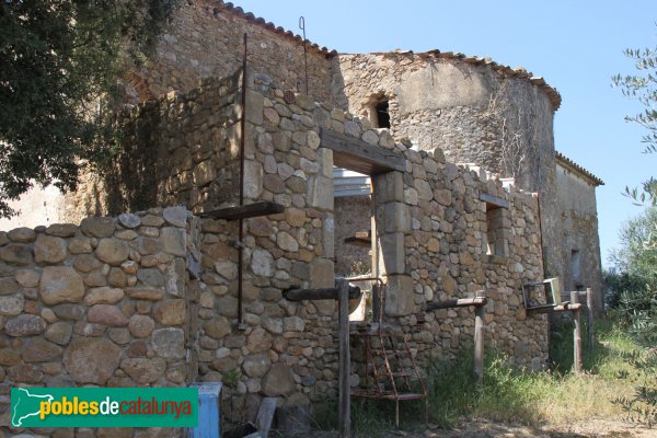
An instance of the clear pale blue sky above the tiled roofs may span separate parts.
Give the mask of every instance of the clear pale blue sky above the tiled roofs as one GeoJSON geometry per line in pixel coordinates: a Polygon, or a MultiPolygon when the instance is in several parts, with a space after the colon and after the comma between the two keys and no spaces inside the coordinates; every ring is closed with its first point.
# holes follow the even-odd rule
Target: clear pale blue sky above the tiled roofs
{"type": "Polygon", "coordinates": [[[642,153],[644,130],[624,122],[641,106],[611,88],[632,73],[623,49],[657,46],[657,1],[264,1],[237,5],[343,53],[395,48],[460,51],[522,66],[562,94],[554,119],[556,149],[601,177],[598,217],[602,264],[618,231],[639,207],[622,196],[657,175],[657,155],[642,153]]]}

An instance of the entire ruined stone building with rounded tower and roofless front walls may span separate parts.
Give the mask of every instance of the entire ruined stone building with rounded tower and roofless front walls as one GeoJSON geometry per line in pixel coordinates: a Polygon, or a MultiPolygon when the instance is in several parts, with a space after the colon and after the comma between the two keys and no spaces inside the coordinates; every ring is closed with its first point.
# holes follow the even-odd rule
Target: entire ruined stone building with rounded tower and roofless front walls
{"type": "Polygon", "coordinates": [[[385,284],[384,321],[420,364],[472,344],[470,311],[430,302],[485,290],[486,348],[534,369],[549,321],[526,311],[522,284],[560,277],[602,309],[602,182],[555,152],[554,89],[488,58],[310,43],[306,76],[303,44],[231,3],[181,8],[157,58],[127,74],[113,169],[32,195],[47,216],[0,233],[3,397],[227,374],[247,412],[264,395],[335,396],[335,302],[283,291],[333,287],[355,262],[385,284]],[[239,205],[241,175],[244,204],[283,212],[208,218],[239,205]],[[369,249],[344,243],[357,232],[369,249]]]}

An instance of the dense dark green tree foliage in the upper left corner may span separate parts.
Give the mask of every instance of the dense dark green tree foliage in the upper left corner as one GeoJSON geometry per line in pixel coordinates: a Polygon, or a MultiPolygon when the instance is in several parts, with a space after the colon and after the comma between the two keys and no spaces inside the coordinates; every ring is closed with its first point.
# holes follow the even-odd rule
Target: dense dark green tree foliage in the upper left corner
{"type": "Polygon", "coordinates": [[[177,0],[0,1],[0,216],[34,184],[73,189],[107,155],[104,105],[177,0]]]}

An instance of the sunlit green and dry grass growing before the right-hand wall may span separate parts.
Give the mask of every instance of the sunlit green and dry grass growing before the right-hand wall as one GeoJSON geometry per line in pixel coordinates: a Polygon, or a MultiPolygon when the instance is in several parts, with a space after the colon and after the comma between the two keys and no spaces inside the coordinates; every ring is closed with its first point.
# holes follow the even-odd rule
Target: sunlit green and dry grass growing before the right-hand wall
{"type": "MultiPolygon", "coordinates": [[[[580,376],[572,372],[572,328],[553,336],[553,369],[531,372],[509,367],[504,357],[487,359],[484,385],[475,390],[472,359],[435,364],[427,370],[429,423],[450,428],[463,419],[485,418],[530,426],[558,425],[589,418],[623,418],[627,414],[614,400],[631,399],[635,388],[654,379],[649,370],[637,369],[629,359],[642,349],[612,323],[596,323],[596,345],[585,345],[580,376]]],[[[654,369],[653,369],[654,371],[654,369]]],[[[401,403],[401,428],[424,427],[424,406],[401,403]]],[[[316,416],[316,427],[337,424],[335,406],[316,416]]],[[[356,436],[374,437],[394,429],[394,403],[353,400],[353,429],[356,436]]]]}

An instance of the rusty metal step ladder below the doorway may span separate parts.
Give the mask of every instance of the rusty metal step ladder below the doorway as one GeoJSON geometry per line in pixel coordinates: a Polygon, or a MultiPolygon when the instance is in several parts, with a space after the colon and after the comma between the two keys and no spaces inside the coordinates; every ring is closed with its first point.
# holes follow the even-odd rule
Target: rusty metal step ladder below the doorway
{"type": "Polygon", "coordinates": [[[384,328],[353,332],[354,345],[362,344],[365,379],[351,389],[351,396],[390,400],[395,403],[395,426],[400,426],[400,402],[424,400],[425,423],[428,419],[428,396],[424,379],[411,354],[406,337],[384,328]]]}

